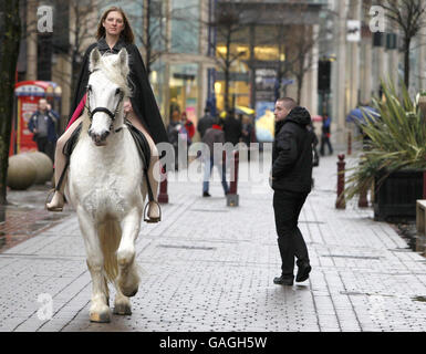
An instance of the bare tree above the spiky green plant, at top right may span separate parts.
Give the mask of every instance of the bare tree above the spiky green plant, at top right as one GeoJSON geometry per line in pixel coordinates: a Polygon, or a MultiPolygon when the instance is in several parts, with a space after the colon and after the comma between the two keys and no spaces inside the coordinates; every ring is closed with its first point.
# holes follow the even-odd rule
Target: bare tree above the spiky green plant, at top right
{"type": "Polygon", "coordinates": [[[391,23],[403,34],[404,82],[409,87],[409,54],[413,39],[419,34],[425,23],[426,4],[424,0],[385,0],[378,3],[386,11],[391,23]]]}

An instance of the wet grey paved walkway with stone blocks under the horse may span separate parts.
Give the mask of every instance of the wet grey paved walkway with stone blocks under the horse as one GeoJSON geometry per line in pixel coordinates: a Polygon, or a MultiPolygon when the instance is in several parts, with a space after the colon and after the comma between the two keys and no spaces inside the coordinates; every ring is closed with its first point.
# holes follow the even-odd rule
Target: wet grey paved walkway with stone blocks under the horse
{"type": "Polygon", "coordinates": [[[70,214],[0,253],[0,331],[425,331],[426,259],[371,209],[334,208],[335,156],[314,177],[300,218],[313,267],[304,283],[272,283],[280,257],[267,184],[242,181],[229,208],[217,181],[201,198],[200,183],[170,180],[164,221],[144,223],[137,240],[132,316],[89,321],[91,278],[70,214]]]}

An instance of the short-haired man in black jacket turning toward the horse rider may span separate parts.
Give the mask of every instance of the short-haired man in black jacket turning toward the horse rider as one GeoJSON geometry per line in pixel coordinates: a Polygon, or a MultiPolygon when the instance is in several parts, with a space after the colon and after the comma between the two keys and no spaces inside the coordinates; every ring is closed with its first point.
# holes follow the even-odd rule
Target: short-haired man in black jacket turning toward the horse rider
{"type": "Polygon", "coordinates": [[[311,191],[312,134],[308,129],[311,115],[292,98],[279,98],[274,115],[271,185],[282,272],[273,282],[291,287],[294,257],[297,282],[305,281],[311,271],[308,248],[298,227],[300,211],[311,191]]]}

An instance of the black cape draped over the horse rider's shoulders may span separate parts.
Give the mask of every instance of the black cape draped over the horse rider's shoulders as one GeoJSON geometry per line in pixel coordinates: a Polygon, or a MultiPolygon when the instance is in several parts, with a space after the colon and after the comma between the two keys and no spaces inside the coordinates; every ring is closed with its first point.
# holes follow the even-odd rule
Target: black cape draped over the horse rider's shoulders
{"type": "Polygon", "coordinates": [[[77,80],[77,85],[75,88],[74,100],[71,104],[71,113],[69,122],[76,110],[79,103],[86,93],[87,82],[89,82],[89,63],[90,54],[93,49],[100,50],[101,54],[105,52],[111,52],[117,54],[122,48],[125,48],[128,53],[128,64],[131,69],[128,83],[131,85],[133,96],[131,97],[133,111],[141,121],[141,123],[148,131],[153,140],[158,143],[168,143],[166,128],[159,114],[157,102],[150,87],[148,75],[146,74],[146,69],[142,60],[141,53],[135,44],[125,43],[122,39],[114,45],[113,49],[110,49],[105,39],[101,39],[98,42],[91,44],[83,58],[82,70],[77,80]]]}

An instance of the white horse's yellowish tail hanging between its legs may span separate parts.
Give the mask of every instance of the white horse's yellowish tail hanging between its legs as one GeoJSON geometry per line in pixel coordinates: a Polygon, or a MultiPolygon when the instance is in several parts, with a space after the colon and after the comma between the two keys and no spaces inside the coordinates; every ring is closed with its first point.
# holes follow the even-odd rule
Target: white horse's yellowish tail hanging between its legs
{"type": "Polygon", "coordinates": [[[98,235],[104,253],[105,275],[110,282],[114,282],[118,275],[116,251],[122,239],[122,228],[117,221],[106,221],[100,226],[98,235]]]}

